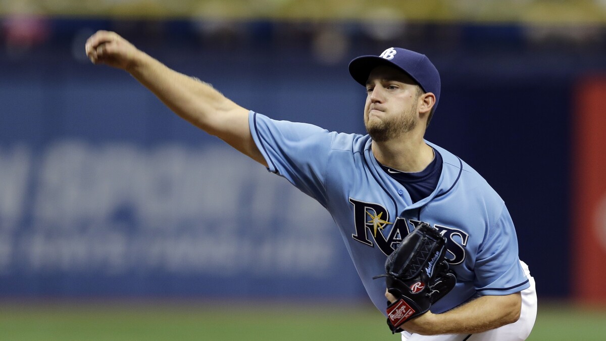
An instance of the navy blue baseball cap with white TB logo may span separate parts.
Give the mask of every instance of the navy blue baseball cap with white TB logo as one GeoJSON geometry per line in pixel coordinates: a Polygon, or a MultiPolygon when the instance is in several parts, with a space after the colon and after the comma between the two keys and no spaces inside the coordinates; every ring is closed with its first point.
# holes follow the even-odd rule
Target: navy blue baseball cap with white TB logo
{"type": "Polygon", "coordinates": [[[440,99],[440,74],[429,58],[421,53],[399,47],[390,47],[378,56],[361,56],[349,63],[349,73],[356,82],[366,86],[368,76],[375,67],[387,65],[408,73],[425,92],[436,96],[435,107],[440,99]]]}

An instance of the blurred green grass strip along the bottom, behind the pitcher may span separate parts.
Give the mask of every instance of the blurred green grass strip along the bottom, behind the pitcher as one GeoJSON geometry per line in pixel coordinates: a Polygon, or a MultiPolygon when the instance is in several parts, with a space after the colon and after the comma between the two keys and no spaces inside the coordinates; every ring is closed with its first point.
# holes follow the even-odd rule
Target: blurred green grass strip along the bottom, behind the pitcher
{"type": "MultiPolygon", "coordinates": [[[[399,340],[365,304],[2,302],[0,340],[399,340]]],[[[606,308],[539,306],[539,340],[606,340],[606,308]]]]}

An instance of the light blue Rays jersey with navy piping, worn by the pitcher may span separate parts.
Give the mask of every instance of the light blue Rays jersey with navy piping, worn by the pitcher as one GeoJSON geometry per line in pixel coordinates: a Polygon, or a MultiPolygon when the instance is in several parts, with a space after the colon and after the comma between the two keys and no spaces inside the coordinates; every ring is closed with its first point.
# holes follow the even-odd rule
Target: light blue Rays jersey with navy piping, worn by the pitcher
{"type": "Polygon", "coordinates": [[[271,172],[315,198],[336,222],[370,299],[385,314],[385,259],[421,221],[447,238],[456,287],[431,307],[444,312],[476,295],[530,286],[504,201],[478,172],[445,149],[438,187],[413,203],[373,156],[368,135],[328,132],[250,112],[250,130],[271,172]]]}

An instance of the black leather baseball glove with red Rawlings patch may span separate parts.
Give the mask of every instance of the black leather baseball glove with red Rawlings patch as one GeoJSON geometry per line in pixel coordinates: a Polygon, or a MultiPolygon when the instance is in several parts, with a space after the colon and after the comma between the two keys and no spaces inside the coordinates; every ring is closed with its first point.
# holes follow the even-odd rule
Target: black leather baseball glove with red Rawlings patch
{"type": "Polygon", "coordinates": [[[399,326],[425,312],[456,284],[456,275],[445,259],[446,238],[427,223],[410,232],[387,257],[385,277],[387,291],[396,302],[387,306],[387,324],[391,333],[399,326]]]}

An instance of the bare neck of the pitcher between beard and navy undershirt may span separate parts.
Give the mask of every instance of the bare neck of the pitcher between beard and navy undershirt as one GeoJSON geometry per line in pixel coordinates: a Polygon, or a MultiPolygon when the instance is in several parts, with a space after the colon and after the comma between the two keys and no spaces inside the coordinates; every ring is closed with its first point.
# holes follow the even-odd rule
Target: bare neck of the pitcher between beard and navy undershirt
{"type": "Polygon", "coordinates": [[[402,172],[421,172],[434,158],[433,148],[422,137],[373,141],[371,148],[379,163],[402,172]]]}

